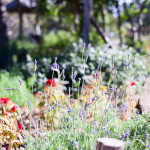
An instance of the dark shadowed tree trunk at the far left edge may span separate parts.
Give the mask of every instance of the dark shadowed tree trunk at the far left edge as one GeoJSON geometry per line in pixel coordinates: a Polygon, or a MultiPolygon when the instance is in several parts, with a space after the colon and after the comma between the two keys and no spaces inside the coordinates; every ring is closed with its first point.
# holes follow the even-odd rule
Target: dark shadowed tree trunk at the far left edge
{"type": "Polygon", "coordinates": [[[7,26],[5,20],[5,7],[3,0],[0,0],[0,45],[8,43],[7,26]]]}

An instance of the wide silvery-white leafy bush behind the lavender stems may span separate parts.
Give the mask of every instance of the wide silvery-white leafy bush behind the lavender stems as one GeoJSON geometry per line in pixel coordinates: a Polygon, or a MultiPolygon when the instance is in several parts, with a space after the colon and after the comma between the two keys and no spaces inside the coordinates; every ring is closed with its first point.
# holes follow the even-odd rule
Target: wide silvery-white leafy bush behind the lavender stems
{"type": "MultiPolygon", "coordinates": [[[[52,59],[48,57],[38,59],[39,66],[37,69],[38,77],[36,85],[41,85],[45,83],[47,78],[52,77],[52,71],[50,71],[52,59]]],[[[89,45],[85,48],[81,41],[79,46],[74,43],[73,48],[66,55],[59,55],[57,62],[61,67],[67,67],[65,80],[70,81],[70,85],[68,86],[71,86],[70,75],[72,67],[77,77],[82,77],[85,74],[95,74],[95,70],[99,66],[103,72],[102,75],[105,84],[109,81],[112,74],[116,74],[113,82],[118,86],[127,80],[136,80],[137,84],[142,85],[149,74],[144,57],[141,57],[135,50],[126,46],[112,49],[107,45],[101,47],[92,47],[89,45]],[[87,61],[83,62],[84,59],[87,59],[87,61]]],[[[33,65],[33,60],[30,58],[27,59],[27,64],[24,68],[31,68],[33,65]]],[[[26,75],[31,74],[29,70],[26,71],[26,75]]],[[[41,86],[38,89],[40,88],[41,86]]]]}

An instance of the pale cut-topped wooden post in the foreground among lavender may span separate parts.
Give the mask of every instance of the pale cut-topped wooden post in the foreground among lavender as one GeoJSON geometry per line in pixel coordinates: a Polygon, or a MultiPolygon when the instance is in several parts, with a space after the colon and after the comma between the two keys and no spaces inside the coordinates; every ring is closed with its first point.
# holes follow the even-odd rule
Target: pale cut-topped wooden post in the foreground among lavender
{"type": "Polygon", "coordinates": [[[124,150],[124,142],[113,138],[99,138],[96,150],[124,150]]]}

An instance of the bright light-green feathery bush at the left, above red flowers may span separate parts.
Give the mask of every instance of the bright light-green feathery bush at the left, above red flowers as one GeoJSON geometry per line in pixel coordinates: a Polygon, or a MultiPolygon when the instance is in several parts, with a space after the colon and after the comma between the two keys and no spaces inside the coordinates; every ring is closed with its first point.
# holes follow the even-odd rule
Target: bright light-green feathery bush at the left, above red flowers
{"type": "Polygon", "coordinates": [[[34,97],[31,91],[27,88],[26,82],[22,84],[22,90],[6,90],[6,88],[20,88],[20,76],[13,76],[8,72],[0,73],[0,97],[9,97],[11,101],[19,106],[27,106],[27,101],[34,103],[34,97]]]}

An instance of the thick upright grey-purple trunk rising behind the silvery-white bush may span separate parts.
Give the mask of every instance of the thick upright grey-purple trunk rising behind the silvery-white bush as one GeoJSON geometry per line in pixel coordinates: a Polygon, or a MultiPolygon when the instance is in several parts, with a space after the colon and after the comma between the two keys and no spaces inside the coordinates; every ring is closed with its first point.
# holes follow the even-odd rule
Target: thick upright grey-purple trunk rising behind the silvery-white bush
{"type": "Polygon", "coordinates": [[[90,18],[92,14],[93,0],[84,0],[83,8],[83,40],[87,45],[89,43],[90,18]]]}

